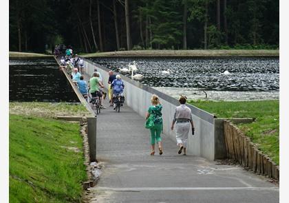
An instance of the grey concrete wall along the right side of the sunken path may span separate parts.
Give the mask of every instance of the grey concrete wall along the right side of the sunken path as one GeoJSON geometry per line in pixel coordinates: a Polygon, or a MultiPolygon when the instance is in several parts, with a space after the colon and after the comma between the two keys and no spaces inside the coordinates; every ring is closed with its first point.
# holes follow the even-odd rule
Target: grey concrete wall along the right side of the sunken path
{"type": "MultiPolygon", "coordinates": [[[[94,68],[103,76],[103,84],[108,87],[108,69],[100,66],[92,61],[85,59],[85,72],[92,74],[94,68]]],[[[119,74],[119,73],[115,73],[119,74]]],[[[147,109],[151,105],[151,96],[157,94],[160,97],[160,103],[163,106],[162,118],[164,123],[164,133],[175,141],[175,132],[171,131],[171,122],[175,107],[180,105],[178,100],[163,94],[156,89],[142,85],[137,81],[131,80],[126,76],[122,76],[122,81],[125,83],[125,101],[131,109],[136,111],[140,116],[145,116],[147,109]]],[[[202,156],[208,160],[215,159],[215,126],[212,114],[209,114],[202,109],[198,109],[192,105],[188,105],[193,114],[193,122],[195,125],[195,136],[189,134],[188,153],[194,156],[202,156]]]]}

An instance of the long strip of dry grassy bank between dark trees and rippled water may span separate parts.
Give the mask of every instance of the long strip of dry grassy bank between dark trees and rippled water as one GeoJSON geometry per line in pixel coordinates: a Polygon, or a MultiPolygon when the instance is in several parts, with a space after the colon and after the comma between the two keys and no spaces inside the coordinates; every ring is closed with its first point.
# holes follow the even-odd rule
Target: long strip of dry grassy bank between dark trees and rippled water
{"type": "Polygon", "coordinates": [[[81,54],[81,56],[279,56],[279,50],[131,50],[81,54]]]}

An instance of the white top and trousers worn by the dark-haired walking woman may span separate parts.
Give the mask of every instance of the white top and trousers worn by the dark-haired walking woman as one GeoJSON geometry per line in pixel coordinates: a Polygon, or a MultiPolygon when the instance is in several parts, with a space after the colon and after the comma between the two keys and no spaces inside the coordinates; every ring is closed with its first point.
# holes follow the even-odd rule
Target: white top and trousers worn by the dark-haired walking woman
{"type": "Polygon", "coordinates": [[[175,133],[177,145],[182,144],[186,148],[188,142],[189,130],[191,127],[192,114],[191,109],[186,105],[180,105],[175,108],[173,120],[176,121],[175,133]]]}

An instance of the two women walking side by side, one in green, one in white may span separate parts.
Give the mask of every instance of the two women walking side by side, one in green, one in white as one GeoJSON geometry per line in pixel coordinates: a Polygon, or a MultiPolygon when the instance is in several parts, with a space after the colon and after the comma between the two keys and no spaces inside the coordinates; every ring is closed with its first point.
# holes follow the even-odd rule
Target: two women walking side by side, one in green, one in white
{"type": "MultiPolygon", "coordinates": [[[[171,130],[173,130],[175,125],[175,133],[178,154],[186,155],[186,147],[189,138],[189,130],[191,128],[192,133],[194,134],[195,128],[193,125],[193,118],[191,114],[191,109],[186,106],[186,97],[181,96],[179,99],[180,106],[175,108],[175,114],[173,116],[173,122],[171,123],[171,130]]],[[[160,155],[163,153],[162,149],[162,138],[160,134],[162,132],[162,105],[160,104],[160,99],[156,94],[153,94],[151,97],[151,106],[147,110],[146,120],[149,118],[153,119],[154,125],[150,127],[151,131],[151,156],[155,154],[155,145],[158,144],[158,150],[160,155]]]]}

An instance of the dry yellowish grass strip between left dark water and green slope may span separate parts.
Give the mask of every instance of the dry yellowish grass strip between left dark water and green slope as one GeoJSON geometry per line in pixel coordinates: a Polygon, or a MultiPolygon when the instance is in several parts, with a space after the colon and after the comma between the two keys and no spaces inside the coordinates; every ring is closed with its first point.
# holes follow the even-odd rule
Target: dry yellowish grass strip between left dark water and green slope
{"type": "Polygon", "coordinates": [[[9,103],[10,114],[56,118],[57,116],[92,116],[81,103],[9,103]]]}

